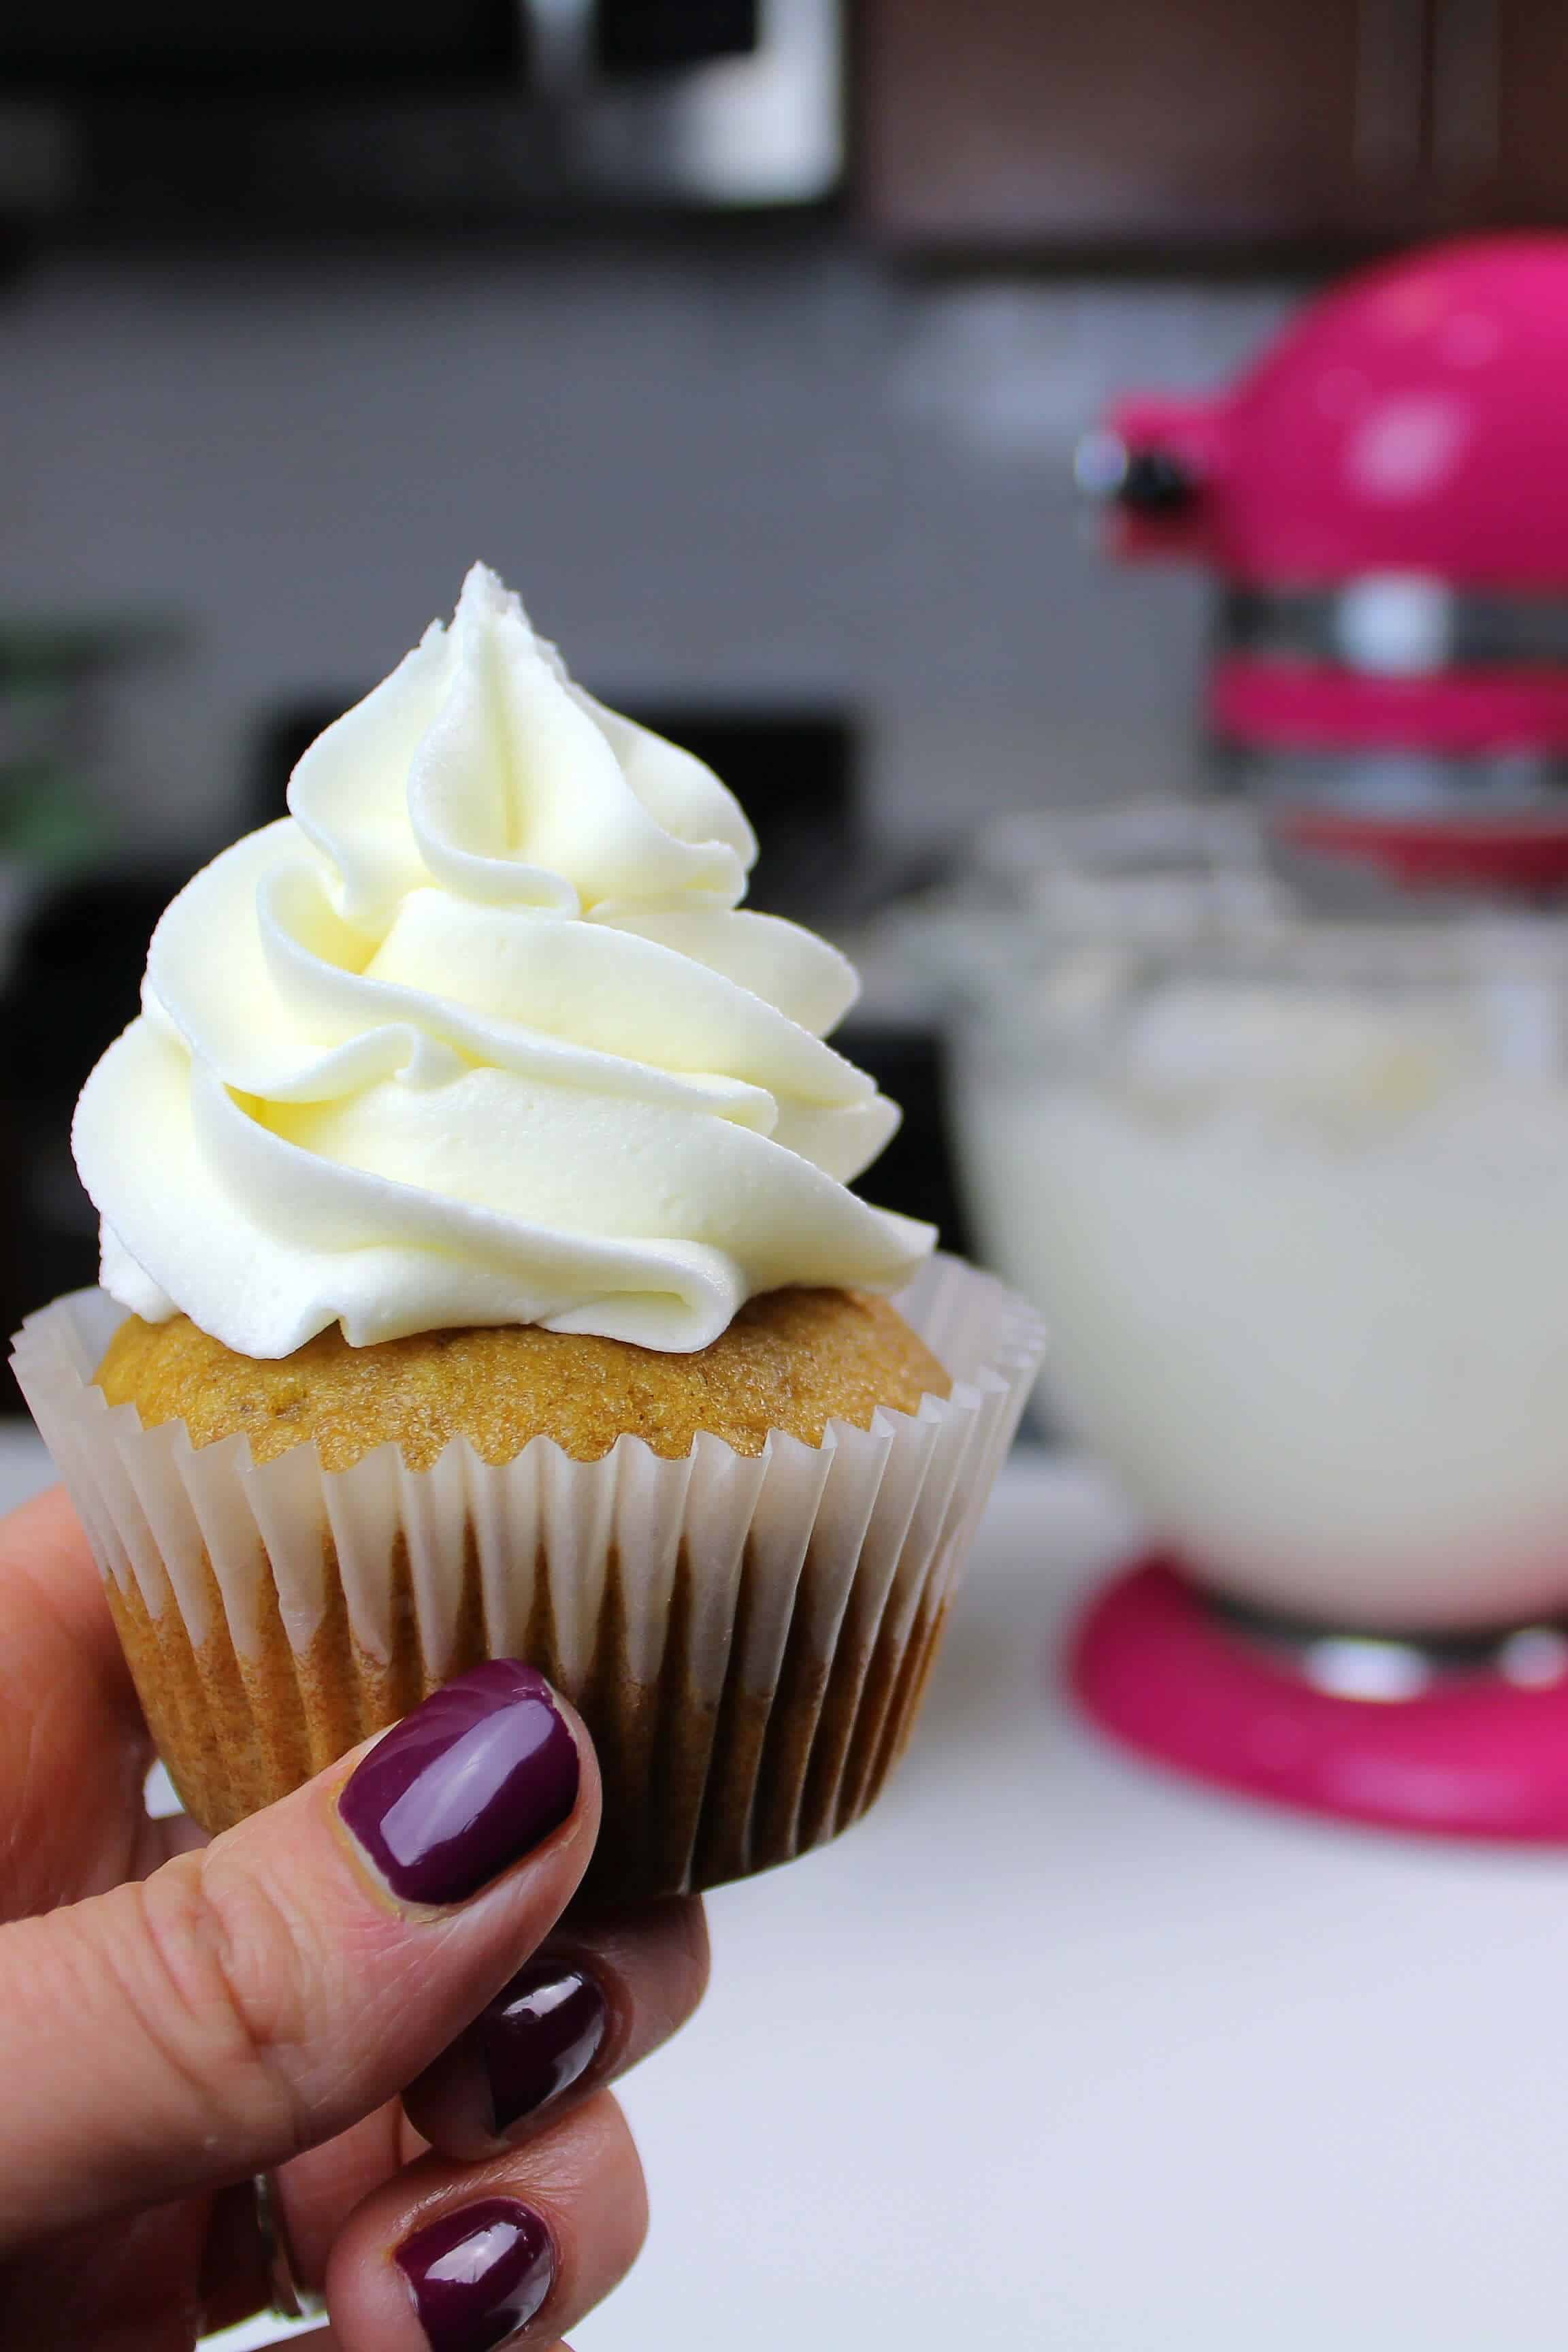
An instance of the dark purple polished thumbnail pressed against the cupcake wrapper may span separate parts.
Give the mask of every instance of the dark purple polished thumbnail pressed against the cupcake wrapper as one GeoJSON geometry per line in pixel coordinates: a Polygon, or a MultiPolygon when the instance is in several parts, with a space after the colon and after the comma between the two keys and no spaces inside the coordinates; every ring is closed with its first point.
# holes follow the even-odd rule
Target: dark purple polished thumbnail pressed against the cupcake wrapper
{"type": "Polygon", "coordinates": [[[491,1658],[404,1715],[339,1813],[404,1903],[463,1903],[559,1830],[578,1755],[543,1675],[491,1658]]]}

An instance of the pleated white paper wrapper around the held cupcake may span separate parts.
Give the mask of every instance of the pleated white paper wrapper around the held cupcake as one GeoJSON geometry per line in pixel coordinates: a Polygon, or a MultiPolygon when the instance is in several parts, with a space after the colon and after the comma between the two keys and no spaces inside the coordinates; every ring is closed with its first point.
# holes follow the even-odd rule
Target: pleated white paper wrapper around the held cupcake
{"type": "Polygon", "coordinates": [[[832,1837],[907,1740],[973,1524],[1041,1355],[1032,1308],[957,1258],[898,1301],[952,1378],[914,1414],[623,1437],[578,1463],[465,1439],[322,1470],[249,1439],[143,1428],[94,1371],[125,1310],[31,1315],[14,1371],[103,1569],[183,1802],[219,1830],[296,1788],[480,1658],[529,1658],[583,1712],[604,1776],[590,1889],[715,1886],[832,1837]]]}

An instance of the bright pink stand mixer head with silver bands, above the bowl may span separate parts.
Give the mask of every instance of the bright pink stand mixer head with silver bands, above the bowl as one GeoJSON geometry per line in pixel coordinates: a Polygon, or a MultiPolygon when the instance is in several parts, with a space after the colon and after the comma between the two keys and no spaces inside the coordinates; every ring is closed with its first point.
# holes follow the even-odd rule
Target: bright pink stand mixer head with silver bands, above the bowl
{"type": "Polygon", "coordinates": [[[1568,887],[1568,238],[1363,270],[1079,449],[1119,560],[1215,576],[1215,769],[1396,887],[1568,887]]]}

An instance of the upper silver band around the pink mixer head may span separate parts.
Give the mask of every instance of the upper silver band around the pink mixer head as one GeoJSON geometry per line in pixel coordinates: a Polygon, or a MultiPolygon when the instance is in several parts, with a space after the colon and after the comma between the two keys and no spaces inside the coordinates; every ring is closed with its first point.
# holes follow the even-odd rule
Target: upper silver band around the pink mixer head
{"type": "Polygon", "coordinates": [[[1436,670],[1568,670],[1568,597],[1450,588],[1420,572],[1368,572],[1333,588],[1232,586],[1220,644],[1368,677],[1436,670]]]}

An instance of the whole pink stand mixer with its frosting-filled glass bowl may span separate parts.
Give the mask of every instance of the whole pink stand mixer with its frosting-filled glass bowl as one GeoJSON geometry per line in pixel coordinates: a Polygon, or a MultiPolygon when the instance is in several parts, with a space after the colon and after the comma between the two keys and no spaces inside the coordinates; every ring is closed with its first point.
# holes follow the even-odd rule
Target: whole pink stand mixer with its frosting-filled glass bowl
{"type": "Polygon", "coordinates": [[[1034,1124],[978,1178],[997,1230],[1009,1150],[1048,1185],[1025,1272],[1053,1395],[1157,1529],[1079,1625],[1088,1715],[1258,1797],[1542,1842],[1568,1839],[1566,419],[1568,238],[1519,235],[1356,275],[1227,393],[1126,400],[1084,442],[1112,550],[1218,576],[1218,779],[1293,910],[1145,941],[1093,1014],[1079,957],[1034,1124]]]}

